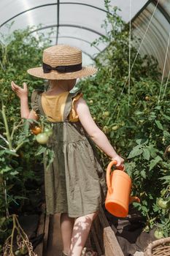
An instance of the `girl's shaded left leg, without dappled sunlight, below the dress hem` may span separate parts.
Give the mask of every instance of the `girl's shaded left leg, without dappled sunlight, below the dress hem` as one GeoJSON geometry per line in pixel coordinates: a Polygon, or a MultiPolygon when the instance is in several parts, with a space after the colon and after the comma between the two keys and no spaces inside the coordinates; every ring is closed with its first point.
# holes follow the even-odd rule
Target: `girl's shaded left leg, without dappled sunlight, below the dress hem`
{"type": "Polygon", "coordinates": [[[63,240],[63,253],[65,255],[69,255],[73,226],[74,218],[70,218],[68,214],[61,214],[61,237],[63,240]]]}

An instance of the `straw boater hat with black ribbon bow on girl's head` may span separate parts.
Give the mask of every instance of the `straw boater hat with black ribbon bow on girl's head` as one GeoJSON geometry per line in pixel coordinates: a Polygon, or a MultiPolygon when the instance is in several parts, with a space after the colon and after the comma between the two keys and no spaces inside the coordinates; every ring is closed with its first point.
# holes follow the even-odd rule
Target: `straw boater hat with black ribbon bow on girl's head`
{"type": "Polygon", "coordinates": [[[94,67],[82,67],[82,51],[69,45],[54,45],[45,49],[42,67],[27,70],[30,75],[50,80],[83,78],[96,71],[94,67]]]}

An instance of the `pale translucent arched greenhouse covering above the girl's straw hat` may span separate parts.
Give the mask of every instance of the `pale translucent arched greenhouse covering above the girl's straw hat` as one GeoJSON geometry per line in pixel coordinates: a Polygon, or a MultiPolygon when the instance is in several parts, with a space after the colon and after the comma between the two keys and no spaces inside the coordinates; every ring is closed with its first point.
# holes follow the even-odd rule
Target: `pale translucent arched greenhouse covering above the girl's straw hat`
{"type": "MultiPolygon", "coordinates": [[[[112,6],[119,7],[123,20],[129,21],[147,3],[147,0],[112,0],[112,6]]],[[[87,61],[107,47],[100,43],[98,48],[90,46],[91,42],[101,34],[105,34],[101,24],[106,18],[104,0],[1,0],[0,1],[0,31],[8,33],[5,23],[12,23],[11,32],[24,29],[27,26],[42,24],[41,30],[48,37],[49,28],[53,27],[52,44],[67,43],[82,49],[87,61]],[[59,3],[59,4],[58,4],[59,3]],[[59,28],[59,29],[58,29],[59,28]]],[[[36,31],[38,33],[38,31],[36,31]]]]}

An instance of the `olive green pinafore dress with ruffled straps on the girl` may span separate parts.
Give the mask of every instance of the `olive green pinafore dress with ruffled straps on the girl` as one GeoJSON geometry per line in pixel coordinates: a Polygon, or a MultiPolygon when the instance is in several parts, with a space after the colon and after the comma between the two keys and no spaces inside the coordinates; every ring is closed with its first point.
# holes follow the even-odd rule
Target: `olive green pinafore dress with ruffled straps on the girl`
{"type": "MultiPolygon", "coordinates": [[[[96,148],[80,121],[69,121],[72,100],[80,91],[69,93],[63,110],[63,121],[53,123],[48,146],[55,157],[50,168],[45,166],[47,214],[67,213],[81,217],[98,211],[104,203],[106,182],[96,148]]],[[[34,91],[31,107],[38,115],[42,108],[42,91],[34,91]]]]}

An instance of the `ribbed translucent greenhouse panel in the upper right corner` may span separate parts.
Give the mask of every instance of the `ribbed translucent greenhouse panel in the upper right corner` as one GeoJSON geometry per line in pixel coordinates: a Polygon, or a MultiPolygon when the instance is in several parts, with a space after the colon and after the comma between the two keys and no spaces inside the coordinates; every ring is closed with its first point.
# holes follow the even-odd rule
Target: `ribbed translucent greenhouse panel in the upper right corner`
{"type": "Polygon", "coordinates": [[[164,76],[167,76],[170,68],[170,18],[166,10],[170,9],[170,1],[160,1],[157,7],[155,4],[155,1],[150,3],[134,20],[133,33],[142,40],[137,46],[139,53],[158,59],[159,67],[161,70],[165,67],[164,76]]]}

